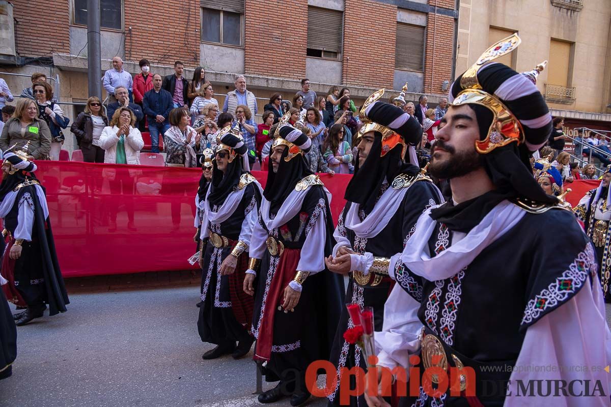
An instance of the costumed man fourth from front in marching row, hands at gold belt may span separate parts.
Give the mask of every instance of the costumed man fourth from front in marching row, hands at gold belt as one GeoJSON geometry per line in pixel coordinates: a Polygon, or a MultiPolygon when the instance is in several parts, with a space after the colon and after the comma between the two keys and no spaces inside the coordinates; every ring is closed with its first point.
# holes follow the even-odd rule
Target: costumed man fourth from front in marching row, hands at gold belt
{"type": "Polygon", "coordinates": [[[227,353],[239,359],[251,350],[252,297],[241,290],[251,247],[252,228],[261,202],[261,185],[247,172],[247,147],[240,129],[219,133],[212,179],[203,203],[203,287],[197,329],[203,342],[216,347],[203,354],[227,353]],[[236,342],[238,345],[236,347],[236,342]]]}

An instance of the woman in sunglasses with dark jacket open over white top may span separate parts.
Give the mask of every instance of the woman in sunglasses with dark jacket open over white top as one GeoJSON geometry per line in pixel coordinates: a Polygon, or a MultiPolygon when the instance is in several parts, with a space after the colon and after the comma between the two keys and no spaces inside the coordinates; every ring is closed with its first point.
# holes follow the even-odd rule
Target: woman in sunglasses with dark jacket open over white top
{"type": "Polygon", "coordinates": [[[76,142],[82,151],[85,162],[104,162],[104,150],[100,148],[100,136],[108,126],[108,118],[102,109],[98,96],[87,99],[85,110],[78,113],[76,120],[70,126],[70,131],[76,136],[76,142]]]}

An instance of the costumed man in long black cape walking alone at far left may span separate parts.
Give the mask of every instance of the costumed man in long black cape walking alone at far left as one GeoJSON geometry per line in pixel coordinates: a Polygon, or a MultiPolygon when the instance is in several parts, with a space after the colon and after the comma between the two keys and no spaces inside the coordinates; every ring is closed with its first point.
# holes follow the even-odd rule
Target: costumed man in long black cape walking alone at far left
{"type": "MultiPolygon", "coordinates": [[[[26,311],[13,315],[17,326],[66,311],[68,295],[59,270],[45,190],[34,175],[37,167],[23,151],[4,153],[0,184],[0,218],[7,247],[0,274],[7,299],[26,311]]],[[[1,366],[0,366],[1,368],[1,366]]]]}

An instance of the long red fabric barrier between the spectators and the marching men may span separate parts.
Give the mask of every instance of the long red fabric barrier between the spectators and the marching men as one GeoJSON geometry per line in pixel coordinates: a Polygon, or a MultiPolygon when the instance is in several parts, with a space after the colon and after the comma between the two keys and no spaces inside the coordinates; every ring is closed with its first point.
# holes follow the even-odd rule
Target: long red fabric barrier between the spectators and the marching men
{"type": "MultiPolygon", "coordinates": [[[[187,259],[196,252],[193,219],[199,168],[36,164],[64,276],[191,268],[187,259]]],[[[266,172],[253,174],[265,185],[266,172]]],[[[332,193],[331,210],[337,220],[350,176],[321,179],[332,193]]]]}

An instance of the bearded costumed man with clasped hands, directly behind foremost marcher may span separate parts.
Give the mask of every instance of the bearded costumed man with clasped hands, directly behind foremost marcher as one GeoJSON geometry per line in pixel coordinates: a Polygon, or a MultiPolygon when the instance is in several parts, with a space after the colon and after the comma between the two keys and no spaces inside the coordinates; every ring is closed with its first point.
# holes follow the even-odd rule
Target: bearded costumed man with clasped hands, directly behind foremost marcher
{"type": "MultiPolygon", "coordinates": [[[[382,97],[379,90],[367,99],[361,115],[371,103],[382,97]]],[[[397,131],[363,117],[357,148],[359,156],[354,176],[346,188],[346,206],[340,214],[334,237],[337,244],[326,259],[329,270],[349,274],[347,301],[361,307],[371,306],[376,331],[382,330],[384,303],[392,279],[376,273],[376,258],[387,258],[403,250],[403,244],[413,231],[416,220],[426,208],[443,202],[441,192],[420,168],[409,162],[408,149],[422,137],[422,126],[415,117],[400,107],[378,105],[393,122],[397,131]],[[403,122],[401,124],[400,122],[403,122]]],[[[407,284],[408,282],[404,281],[407,284]]],[[[357,322],[358,323],[358,322],[357,322]]],[[[340,405],[340,372],[354,366],[364,368],[365,356],[356,345],[349,344],[343,333],[353,328],[346,308],[335,333],[331,361],[337,367],[335,392],[329,395],[332,405],[340,405]]],[[[365,400],[351,397],[350,405],[364,405],[365,400]]]]}

